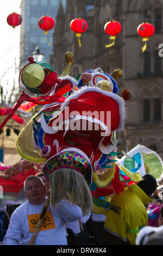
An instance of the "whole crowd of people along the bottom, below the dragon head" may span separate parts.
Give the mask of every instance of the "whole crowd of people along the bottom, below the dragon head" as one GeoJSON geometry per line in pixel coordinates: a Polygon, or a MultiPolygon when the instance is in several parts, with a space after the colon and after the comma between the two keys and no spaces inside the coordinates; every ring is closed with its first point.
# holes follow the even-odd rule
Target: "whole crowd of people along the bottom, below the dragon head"
{"type": "MultiPolygon", "coordinates": [[[[50,189],[44,173],[29,176],[24,181],[27,200],[11,214],[7,232],[3,230],[6,206],[2,208],[1,205],[2,244],[29,245],[50,189]]],[[[150,174],[143,176],[143,180],[137,184],[130,185],[128,190],[115,195],[107,216],[91,211],[83,216],[79,205],[64,198],[55,208],[48,205],[34,244],[162,245],[162,198],[163,178],[155,180],[150,174]],[[93,237],[91,242],[90,237],[93,237]]]]}

